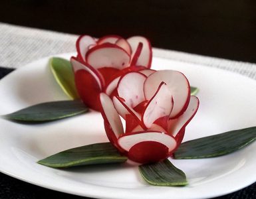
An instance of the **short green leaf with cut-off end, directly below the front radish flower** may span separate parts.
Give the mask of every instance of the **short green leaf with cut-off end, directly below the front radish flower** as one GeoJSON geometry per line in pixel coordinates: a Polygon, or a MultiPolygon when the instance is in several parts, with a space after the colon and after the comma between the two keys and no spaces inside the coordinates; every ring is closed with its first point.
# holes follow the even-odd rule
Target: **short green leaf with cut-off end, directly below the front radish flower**
{"type": "Polygon", "coordinates": [[[162,162],[140,165],[140,174],[148,184],[156,186],[185,186],[186,174],[176,168],[168,159],[162,162]]]}

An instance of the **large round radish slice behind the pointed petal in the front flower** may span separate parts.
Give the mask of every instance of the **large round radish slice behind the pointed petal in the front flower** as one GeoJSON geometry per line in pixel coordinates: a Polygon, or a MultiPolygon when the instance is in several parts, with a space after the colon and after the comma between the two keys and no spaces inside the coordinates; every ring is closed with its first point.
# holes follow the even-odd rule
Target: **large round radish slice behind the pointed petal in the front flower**
{"type": "Polygon", "coordinates": [[[190,101],[190,83],[184,74],[176,70],[158,70],[148,76],[144,84],[146,100],[154,96],[161,82],[165,82],[174,98],[171,118],[178,117],[186,111],[190,101]]]}

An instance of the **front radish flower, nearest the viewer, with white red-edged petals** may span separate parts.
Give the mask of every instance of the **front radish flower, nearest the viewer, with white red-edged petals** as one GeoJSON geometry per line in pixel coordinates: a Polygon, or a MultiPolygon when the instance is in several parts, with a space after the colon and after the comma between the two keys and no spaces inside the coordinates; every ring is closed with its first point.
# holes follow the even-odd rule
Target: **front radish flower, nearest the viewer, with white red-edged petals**
{"type": "Polygon", "coordinates": [[[172,155],[199,107],[198,98],[190,96],[186,76],[176,70],[142,69],[126,71],[115,81],[116,96],[100,94],[110,142],[137,163],[154,163],[172,155]]]}

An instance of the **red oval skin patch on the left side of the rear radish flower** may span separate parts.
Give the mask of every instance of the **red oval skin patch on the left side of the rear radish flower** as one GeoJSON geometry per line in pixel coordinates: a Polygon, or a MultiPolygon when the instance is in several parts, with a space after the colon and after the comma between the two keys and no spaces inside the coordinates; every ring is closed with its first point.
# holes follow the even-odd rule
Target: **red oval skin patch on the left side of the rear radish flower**
{"type": "Polygon", "coordinates": [[[78,70],[74,74],[74,82],[78,94],[84,104],[96,111],[100,111],[98,95],[100,94],[101,89],[95,78],[86,70],[78,70]]]}

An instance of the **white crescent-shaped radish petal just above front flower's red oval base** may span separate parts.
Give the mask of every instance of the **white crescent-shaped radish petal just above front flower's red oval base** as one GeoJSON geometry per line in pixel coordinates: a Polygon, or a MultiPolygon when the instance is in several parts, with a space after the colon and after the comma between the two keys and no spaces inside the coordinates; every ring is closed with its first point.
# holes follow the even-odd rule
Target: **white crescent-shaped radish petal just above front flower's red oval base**
{"type": "Polygon", "coordinates": [[[176,147],[176,141],[171,135],[158,131],[141,131],[136,133],[126,133],[118,139],[118,144],[125,151],[129,151],[134,145],[144,141],[155,141],[162,143],[172,151],[176,147]]]}

